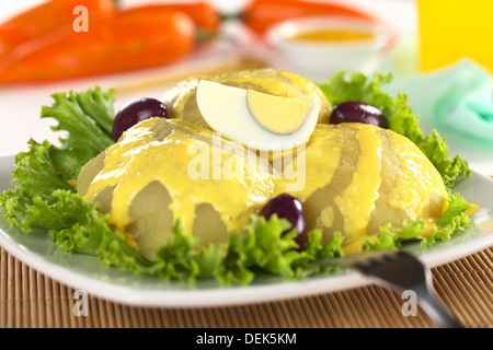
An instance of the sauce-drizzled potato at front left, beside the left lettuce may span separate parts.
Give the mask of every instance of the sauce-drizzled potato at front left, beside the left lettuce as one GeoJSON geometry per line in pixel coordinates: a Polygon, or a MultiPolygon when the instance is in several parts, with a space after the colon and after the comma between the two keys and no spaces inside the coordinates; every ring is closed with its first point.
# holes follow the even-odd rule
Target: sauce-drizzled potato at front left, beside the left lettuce
{"type": "Polygon", "coordinates": [[[230,142],[185,120],[151,118],[90,161],[78,190],[100,202],[117,234],[149,259],[173,238],[177,219],[203,244],[225,242],[274,190],[268,164],[243,148],[228,152],[230,142]],[[240,176],[229,176],[231,164],[240,176]]]}

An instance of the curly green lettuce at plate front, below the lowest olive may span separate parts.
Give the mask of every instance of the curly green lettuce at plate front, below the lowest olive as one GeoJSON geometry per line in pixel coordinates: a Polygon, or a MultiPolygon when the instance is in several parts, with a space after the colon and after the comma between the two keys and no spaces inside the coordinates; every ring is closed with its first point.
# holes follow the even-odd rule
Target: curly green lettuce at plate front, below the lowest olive
{"type": "MultiPolygon", "coordinates": [[[[330,244],[320,244],[321,234],[312,231],[307,247],[299,249],[294,241],[296,231],[283,234],[290,223],[277,215],[268,220],[252,215],[245,233],[232,232],[225,243],[200,245],[197,237],[185,236],[180,221],[173,226],[174,240],[158,249],[157,260],[148,272],[163,280],[195,281],[216,278],[222,284],[249,284],[262,271],[290,279],[321,273],[310,270],[310,262],[342,256],[342,235],[330,244]]],[[[323,270],[326,271],[326,270],[323,270]]]]}

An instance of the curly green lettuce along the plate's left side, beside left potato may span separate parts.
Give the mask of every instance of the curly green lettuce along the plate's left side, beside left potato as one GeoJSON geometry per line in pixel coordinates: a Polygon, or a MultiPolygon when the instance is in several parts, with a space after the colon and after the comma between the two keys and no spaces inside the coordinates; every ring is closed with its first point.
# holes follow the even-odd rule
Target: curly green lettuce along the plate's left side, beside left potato
{"type": "Polygon", "coordinates": [[[28,233],[46,229],[67,254],[96,255],[105,266],[144,273],[150,265],[114,232],[99,206],[84,202],[72,184],[82,166],[113,143],[113,90],[99,86],[56,93],[42,118],[54,118],[54,131],[64,131],[60,145],[28,141],[28,151],[15,156],[14,189],[0,194],[5,221],[28,233]]]}

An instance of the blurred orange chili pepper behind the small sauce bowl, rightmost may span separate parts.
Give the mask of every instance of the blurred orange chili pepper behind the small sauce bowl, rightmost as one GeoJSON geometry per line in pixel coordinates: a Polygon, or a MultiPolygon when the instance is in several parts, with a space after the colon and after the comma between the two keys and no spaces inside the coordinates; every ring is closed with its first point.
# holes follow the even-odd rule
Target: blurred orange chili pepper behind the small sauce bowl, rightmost
{"type": "Polygon", "coordinates": [[[343,15],[376,22],[368,13],[334,2],[303,0],[252,0],[242,11],[243,23],[262,35],[273,24],[310,15],[343,15]]]}

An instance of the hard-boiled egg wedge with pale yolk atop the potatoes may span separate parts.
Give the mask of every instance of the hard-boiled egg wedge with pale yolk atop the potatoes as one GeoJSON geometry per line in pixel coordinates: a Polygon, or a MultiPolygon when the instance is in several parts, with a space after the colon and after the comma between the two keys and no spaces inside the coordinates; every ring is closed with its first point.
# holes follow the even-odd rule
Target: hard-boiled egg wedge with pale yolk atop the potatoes
{"type": "Polygon", "coordinates": [[[223,137],[263,151],[282,151],[306,142],[320,106],[202,80],[197,106],[206,122],[223,137]]]}

